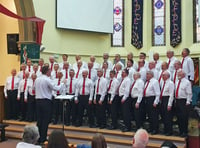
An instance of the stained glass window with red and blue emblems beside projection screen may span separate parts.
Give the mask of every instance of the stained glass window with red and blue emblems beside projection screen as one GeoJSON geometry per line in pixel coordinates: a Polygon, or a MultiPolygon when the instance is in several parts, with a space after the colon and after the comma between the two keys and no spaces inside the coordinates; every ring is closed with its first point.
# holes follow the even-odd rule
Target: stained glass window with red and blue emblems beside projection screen
{"type": "Polygon", "coordinates": [[[113,34],[111,36],[111,44],[113,47],[124,46],[124,0],[114,0],[113,5],[113,34]]]}

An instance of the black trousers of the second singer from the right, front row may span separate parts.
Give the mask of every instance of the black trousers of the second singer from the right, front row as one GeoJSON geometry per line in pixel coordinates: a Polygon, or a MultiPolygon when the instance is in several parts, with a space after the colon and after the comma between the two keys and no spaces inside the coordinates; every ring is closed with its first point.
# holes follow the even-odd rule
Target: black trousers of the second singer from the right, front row
{"type": "Polygon", "coordinates": [[[161,110],[161,117],[162,121],[164,124],[164,132],[165,133],[172,133],[172,110],[168,111],[168,101],[169,101],[169,96],[163,96],[161,98],[161,105],[160,105],[160,110],[161,110]]]}

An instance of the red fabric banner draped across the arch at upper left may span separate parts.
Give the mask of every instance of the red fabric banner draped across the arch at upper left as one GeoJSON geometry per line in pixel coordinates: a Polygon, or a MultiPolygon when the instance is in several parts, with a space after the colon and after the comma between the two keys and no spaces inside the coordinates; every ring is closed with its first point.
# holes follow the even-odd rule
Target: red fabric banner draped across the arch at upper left
{"type": "Polygon", "coordinates": [[[36,35],[36,43],[41,45],[42,41],[42,33],[43,33],[43,27],[45,20],[38,18],[38,17],[21,17],[12,11],[8,10],[6,7],[4,7],[2,4],[0,4],[0,12],[3,13],[4,15],[20,19],[20,20],[25,20],[25,21],[31,21],[36,23],[37,27],[37,35],[36,35]]]}

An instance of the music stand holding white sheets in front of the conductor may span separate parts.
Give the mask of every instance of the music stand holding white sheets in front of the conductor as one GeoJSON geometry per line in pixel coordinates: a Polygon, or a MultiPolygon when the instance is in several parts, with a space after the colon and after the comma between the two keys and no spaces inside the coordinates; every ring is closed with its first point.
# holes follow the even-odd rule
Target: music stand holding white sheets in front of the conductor
{"type": "Polygon", "coordinates": [[[59,95],[57,97],[55,97],[55,99],[58,99],[58,100],[62,100],[62,103],[63,103],[63,121],[62,121],[62,129],[64,131],[64,122],[65,122],[65,103],[67,100],[72,100],[75,96],[74,95],[59,95]]]}

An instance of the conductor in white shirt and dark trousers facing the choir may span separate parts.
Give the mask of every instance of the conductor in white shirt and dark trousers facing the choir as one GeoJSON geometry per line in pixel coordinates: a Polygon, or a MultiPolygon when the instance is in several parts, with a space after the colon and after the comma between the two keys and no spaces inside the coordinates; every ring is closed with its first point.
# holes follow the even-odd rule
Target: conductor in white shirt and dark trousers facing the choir
{"type": "Polygon", "coordinates": [[[51,69],[48,66],[43,66],[42,76],[35,80],[37,126],[40,134],[39,143],[44,143],[47,137],[52,110],[52,90],[58,91],[62,86],[54,85],[50,75],[51,69]]]}

